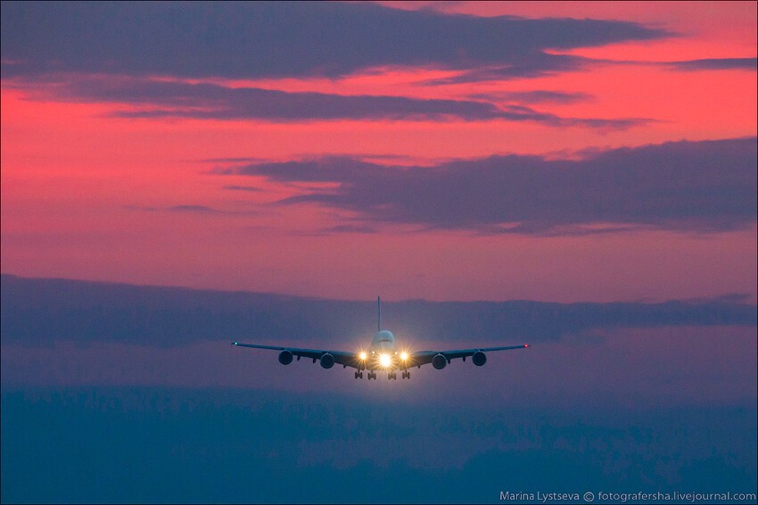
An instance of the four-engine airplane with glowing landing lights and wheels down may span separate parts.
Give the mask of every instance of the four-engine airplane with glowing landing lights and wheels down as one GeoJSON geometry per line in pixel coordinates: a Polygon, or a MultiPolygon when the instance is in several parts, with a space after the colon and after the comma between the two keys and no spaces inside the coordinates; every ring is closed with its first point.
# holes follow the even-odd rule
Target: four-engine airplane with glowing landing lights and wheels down
{"type": "Polygon", "coordinates": [[[449,365],[450,360],[462,358],[466,361],[468,356],[474,365],[481,367],[487,362],[485,352],[491,351],[510,351],[513,349],[526,349],[529,344],[508,345],[505,347],[480,347],[477,349],[457,349],[454,351],[417,351],[410,352],[407,349],[398,347],[395,341],[395,335],[391,331],[382,329],[382,300],[376,298],[376,307],[378,311],[378,320],[376,324],[376,335],[366,350],[360,352],[345,351],[323,351],[318,349],[298,349],[296,347],[280,347],[277,345],[260,345],[260,344],[242,344],[233,342],[236,347],[251,347],[253,349],[270,349],[279,351],[279,362],[283,365],[292,363],[295,357],[298,361],[301,358],[309,358],[315,363],[319,360],[321,367],[332,368],[334,363],[342,365],[342,368],[355,368],[355,378],[363,378],[363,372],[368,370],[367,379],[376,380],[376,370],[383,370],[387,373],[387,379],[398,379],[397,370],[402,370],[402,378],[410,378],[409,368],[418,367],[427,363],[438,370],[449,365]]]}

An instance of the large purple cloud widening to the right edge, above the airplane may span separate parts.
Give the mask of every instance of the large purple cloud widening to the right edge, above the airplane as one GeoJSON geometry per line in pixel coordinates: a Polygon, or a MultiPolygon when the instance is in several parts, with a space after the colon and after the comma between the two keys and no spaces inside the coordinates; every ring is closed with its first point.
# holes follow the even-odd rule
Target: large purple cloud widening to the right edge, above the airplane
{"type": "Polygon", "coordinates": [[[756,164],[753,137],[614,149],[584,153],[580,160],[507,155],[388,167],[327,157],[233,166],[221,173],[337,183],[328,192],[306,190],[280,204],[317,203],[367,222],[564,235],[753,226],[756,164]]]}

